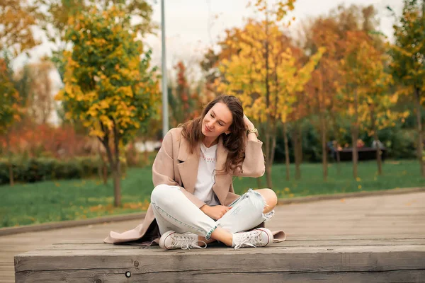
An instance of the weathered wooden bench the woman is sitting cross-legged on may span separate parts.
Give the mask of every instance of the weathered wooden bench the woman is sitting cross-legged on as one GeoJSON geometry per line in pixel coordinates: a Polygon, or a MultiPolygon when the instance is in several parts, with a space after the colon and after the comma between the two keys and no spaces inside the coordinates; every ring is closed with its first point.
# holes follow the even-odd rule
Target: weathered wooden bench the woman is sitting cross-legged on
{"type": "Polygon", "coordinates": [[[22,282],[424,282],[425,237],[300,237],[269,248],[162,250],[101,241],[16,255],[22,282]]]}

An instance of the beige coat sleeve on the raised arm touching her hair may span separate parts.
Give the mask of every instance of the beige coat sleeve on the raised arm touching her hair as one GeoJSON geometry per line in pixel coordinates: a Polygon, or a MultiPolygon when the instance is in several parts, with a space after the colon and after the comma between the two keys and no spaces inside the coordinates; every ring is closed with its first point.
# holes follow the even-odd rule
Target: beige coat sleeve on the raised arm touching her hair
{"type": "Polygon", "coordinates": [[[238,166],[233,171],[234,176],[242,177],[261,177],[266,171],[264,166],[263,155],[263,142],[262,141],[246,141],[245,158],[242,161],[242,170],[238,166]]]}

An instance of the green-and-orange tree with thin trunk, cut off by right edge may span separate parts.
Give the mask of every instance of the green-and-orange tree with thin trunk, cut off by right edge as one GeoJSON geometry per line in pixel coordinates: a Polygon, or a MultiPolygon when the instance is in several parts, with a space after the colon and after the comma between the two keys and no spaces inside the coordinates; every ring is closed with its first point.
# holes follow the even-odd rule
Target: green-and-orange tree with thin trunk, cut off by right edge
{"type": "Polygon", "coordinates": [[[390,69],[404,93],[414,98],[417,127],[417,156],[421,175],[425,177],[424,111],[425,91],[425,1],[404,0],[402,16],[394,25],[395,44],[391,46],[390,69]]]}

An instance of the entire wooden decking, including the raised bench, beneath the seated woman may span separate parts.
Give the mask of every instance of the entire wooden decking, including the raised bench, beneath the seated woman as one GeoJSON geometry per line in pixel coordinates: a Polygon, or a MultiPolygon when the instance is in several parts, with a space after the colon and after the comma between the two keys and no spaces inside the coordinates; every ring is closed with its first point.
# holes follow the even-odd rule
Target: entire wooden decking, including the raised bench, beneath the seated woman
{"type": "Polygon", "coordinates": [[[13,255],[16,282],[425,282],[425,192],[279,206],[267,226],[288,241],[270,248],[101,243],[138,222],[0,237],[0,282],[13,255]]]}

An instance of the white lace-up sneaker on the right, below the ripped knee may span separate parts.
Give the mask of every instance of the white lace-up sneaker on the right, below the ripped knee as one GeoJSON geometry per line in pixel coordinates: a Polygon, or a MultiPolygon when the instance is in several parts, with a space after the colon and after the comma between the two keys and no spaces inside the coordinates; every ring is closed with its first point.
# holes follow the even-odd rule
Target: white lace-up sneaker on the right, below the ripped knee
{"type": "Polygon", "coordinates": [[[273,234],[266,228],[254,229],[249,232],[234,233],[232,247],[235,250],[244,247],[265,247],[273,243],[273,234]]]}

